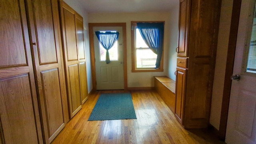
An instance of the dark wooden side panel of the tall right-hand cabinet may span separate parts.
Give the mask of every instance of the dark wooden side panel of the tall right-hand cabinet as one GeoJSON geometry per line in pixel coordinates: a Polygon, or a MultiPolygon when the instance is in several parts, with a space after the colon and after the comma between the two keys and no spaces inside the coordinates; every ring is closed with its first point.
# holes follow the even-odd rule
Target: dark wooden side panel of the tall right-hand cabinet
{"type": "Polygon", "coordinates": [[[211,111],[221,0],[192,2],[184,127],[207,128],[211,111]]]}

